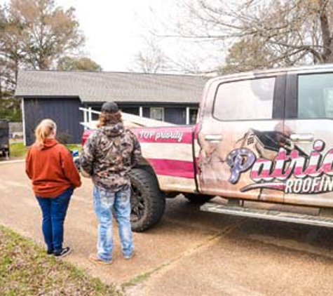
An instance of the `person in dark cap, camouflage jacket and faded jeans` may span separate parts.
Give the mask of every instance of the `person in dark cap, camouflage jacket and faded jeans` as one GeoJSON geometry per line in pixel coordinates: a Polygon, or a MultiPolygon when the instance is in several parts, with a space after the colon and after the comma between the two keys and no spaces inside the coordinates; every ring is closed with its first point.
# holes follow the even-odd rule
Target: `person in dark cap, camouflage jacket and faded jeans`
{"type": "Polygon", "coordinates": [[[124,128],[121,112],[114,102],[104,103],[98,129],[83,147],[81,169],[93,178],[94,206],[98,225],[97,254],[89,256],[97,264],[111,264],[114,247],[112,208],[118,222],[123,256],[134,255],[130,225],[131,168],[141,158],[137,137],[124,128]]]}

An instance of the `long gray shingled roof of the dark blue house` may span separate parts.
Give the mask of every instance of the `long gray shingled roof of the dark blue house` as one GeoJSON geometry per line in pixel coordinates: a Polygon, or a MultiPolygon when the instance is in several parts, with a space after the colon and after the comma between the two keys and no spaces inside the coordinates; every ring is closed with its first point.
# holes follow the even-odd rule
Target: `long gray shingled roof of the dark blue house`
{"type": "Polygon", "coordinates": [[[20,71],[16,97],[79,97],[82,102],[198,103],[207,77],[125,72],[20,71]]]}

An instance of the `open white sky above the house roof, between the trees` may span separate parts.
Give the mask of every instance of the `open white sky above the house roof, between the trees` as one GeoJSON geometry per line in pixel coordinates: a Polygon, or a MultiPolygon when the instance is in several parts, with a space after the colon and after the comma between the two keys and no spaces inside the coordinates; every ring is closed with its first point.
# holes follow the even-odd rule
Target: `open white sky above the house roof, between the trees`
{"type": "MultiPolygon", "coordinates": [[[[9,0],[0,0],[0,4],[9,0]]],[[[161,36],[174,34],[170,28],[184,18],[177,0],[55,0],[64,8],[74,7],[80,29],[86,36],[83,55],[92,58],[104,71],[128,72],[135,69],[135,56],[147,48],[151,31],[161,36]],[[171,33],[170,33],[171,32],[171,33]]],[[[171,29],[172,30],[172,29],[171,29]]],[[[186,67],[208,69],[216,65],[212,48],[193,41],[154,37],[175,71],[186,67]],[[181,61],[181,65],[178,65],[181,61]]],[[[219,54],[219,53],[217,53],[219,54]]],[[[138,71],[137,69],[135,69],[138,71]]],[[[140,71],[140,70],[139,70],[140,71]]]]}

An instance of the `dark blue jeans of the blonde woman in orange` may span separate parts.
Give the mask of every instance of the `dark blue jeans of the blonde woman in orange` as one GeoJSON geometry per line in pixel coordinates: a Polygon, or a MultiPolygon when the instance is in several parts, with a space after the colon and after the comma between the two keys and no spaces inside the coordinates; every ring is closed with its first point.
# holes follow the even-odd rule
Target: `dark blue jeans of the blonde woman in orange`
{"type": "Polygon", "coordinates": [[[43,236],[49,251],[60,252],[64,241],[64,218],[69,200],[73,194],[72,187],[62,192],[55,199],[38,197],[37,201],[43,213],[43,236]]]}

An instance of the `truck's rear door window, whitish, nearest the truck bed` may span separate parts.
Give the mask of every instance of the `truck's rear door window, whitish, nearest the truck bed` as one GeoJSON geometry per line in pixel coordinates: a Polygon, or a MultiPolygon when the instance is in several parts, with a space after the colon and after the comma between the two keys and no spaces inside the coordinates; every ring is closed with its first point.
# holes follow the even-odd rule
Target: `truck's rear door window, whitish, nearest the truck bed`
{"type": "Polygon", "coordinates": [[[275,77],[222,83],[214,116],[222,121],[272,119],[275,77]]]}

